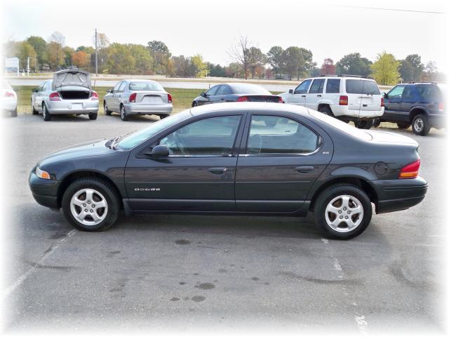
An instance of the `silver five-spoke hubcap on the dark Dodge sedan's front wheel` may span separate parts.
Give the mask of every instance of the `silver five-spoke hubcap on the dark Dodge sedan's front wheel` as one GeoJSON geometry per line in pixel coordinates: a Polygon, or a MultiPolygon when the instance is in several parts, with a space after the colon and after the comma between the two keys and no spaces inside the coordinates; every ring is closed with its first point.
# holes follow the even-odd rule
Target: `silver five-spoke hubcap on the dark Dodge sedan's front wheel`
{"type": "Polygon", "coordinates": [[[70,201],[72,216],[86,226],[98,225],[107,216],[107,201],[103,194],[91,188],[83,188],[70,201]]]}

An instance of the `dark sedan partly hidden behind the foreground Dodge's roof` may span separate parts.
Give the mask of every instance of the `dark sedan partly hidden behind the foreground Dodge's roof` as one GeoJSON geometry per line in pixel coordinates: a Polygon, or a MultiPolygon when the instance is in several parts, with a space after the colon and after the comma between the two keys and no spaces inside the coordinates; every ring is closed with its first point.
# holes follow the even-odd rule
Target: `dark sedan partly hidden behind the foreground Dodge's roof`
{"type": "Polygon", "coordinates": [[[201,93],[192,102],[192,107],[223,102],[283,103],[280,96],[273,95],[262,86],[248,83],[224,83],[217,84],[205,93],[201,93]]]}

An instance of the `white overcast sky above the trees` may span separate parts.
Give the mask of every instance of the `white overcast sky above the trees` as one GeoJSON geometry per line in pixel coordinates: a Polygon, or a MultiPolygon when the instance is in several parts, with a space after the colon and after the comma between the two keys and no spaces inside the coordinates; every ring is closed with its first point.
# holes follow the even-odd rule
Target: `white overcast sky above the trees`
{"type": "Polygon", "coordinates": [[[387,51],[396,58],[418,53],[446,70],[448,51],[446,3],[449,1],[2,1],[6,39],[29,35],[48,39],[58,30],[66,44],[93,45],[95,27],[110,41],[147,44],[164,41],[173,55],[200,53],[205,60],[227,64],[239,35],[264,53],[272,46],[300,46],[335,62],[360,52],[375,60],[387,51]]]}

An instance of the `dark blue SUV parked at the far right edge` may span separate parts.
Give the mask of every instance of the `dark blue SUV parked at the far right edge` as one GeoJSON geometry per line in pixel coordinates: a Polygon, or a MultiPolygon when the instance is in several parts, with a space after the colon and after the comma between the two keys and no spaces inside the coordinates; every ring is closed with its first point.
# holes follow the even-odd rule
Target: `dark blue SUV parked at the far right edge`
{"type": "Polygon", "coordinates": [[[431,128],[445,127],[445,98],[447,85],[436,82],[398,84],[384,94],[385,112],[382,121],[396,123],[398,128],[409,128],[417,135],[426,136],[431,128]]]}

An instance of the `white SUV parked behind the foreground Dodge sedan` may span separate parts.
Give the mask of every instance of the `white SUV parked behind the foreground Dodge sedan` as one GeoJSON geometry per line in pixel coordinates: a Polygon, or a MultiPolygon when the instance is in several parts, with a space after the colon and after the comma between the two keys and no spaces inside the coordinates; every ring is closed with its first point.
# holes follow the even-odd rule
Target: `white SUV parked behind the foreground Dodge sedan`
{"type": "Polygon", "coordinates": [[[370,128],[384,114],[384,99],[373,79],[355,76],[322,76],[304,79],[295,89],[281,93],[285,103],[303,105],[358,128],[370,128]]]}

